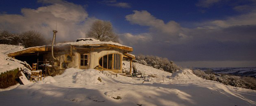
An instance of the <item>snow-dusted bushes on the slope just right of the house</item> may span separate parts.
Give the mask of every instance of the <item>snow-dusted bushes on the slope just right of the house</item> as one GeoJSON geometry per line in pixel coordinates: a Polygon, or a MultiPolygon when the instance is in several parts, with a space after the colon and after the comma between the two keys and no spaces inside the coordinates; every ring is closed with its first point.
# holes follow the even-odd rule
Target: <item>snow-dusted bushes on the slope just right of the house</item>
{"type": "Polygon", "coordinates": [[[152,56],[152,55],[136,55],[135,62],[143,65],[152,66],[154,68],[171,72],[171,73],[181,69],[179,66],[174,64],[172,61],[169,61],[167,58],[161,58],[161,57],[152,56]]]}

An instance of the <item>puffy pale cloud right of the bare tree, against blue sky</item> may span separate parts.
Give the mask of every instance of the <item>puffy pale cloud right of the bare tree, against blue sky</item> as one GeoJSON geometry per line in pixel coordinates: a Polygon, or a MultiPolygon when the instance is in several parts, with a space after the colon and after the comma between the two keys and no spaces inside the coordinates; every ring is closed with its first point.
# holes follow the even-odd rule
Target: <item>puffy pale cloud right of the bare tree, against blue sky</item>
{"type": "Polygon", "coordinates": [[[139,24],[141,26],[149,27],[150,33],[155,33],[155,37],[158,39],[169,41],[170,39],[176,40],[182,37],[179,36],[181,26],[177,22],[169,21],[164,23],[163,20],[157,19],[145,10],[134,10],[133,12],[134,14],[126,15],[126,20],[128,20],[131,24],[139,24]]]}

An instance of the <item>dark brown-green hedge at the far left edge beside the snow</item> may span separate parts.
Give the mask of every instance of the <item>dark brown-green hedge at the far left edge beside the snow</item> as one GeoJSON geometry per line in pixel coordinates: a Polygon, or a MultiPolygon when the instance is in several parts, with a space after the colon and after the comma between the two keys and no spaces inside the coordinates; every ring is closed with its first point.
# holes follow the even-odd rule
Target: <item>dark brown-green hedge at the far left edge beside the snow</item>
{"type": "Polygon", "coordinates": [[[12,85],[17,84],[17,78],[19,77],[19,68],[3,72],[0,74],[0,88],[4,89],[12,85]]]}

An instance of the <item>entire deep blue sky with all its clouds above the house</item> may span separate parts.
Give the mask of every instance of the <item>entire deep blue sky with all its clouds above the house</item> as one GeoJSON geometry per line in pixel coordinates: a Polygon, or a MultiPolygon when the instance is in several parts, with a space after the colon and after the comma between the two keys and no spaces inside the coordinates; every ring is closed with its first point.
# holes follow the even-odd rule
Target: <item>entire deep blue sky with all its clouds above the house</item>
{"type": "Polygon", "coordinates": [[[0,30],[36,30],[58,41],[85,36],[110,21],[134,54],[158,55],[181,66],[256,66],[256,0],[4,0],[0,30]]]}

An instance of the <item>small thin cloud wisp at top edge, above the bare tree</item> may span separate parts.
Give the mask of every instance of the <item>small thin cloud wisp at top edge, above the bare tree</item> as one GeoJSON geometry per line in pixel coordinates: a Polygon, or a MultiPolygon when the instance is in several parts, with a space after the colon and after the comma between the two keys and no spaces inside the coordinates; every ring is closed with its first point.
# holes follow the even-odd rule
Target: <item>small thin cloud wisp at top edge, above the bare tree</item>
{"type": "Polygon", "coordinates": [[[117,2],[116,0],[104,0],[101,1],[100,3],[104,3],[109,6],[114,6],[114,7],[122,7],[122,8],[130,8],[130,4],[127,2],[117,2]]]}

